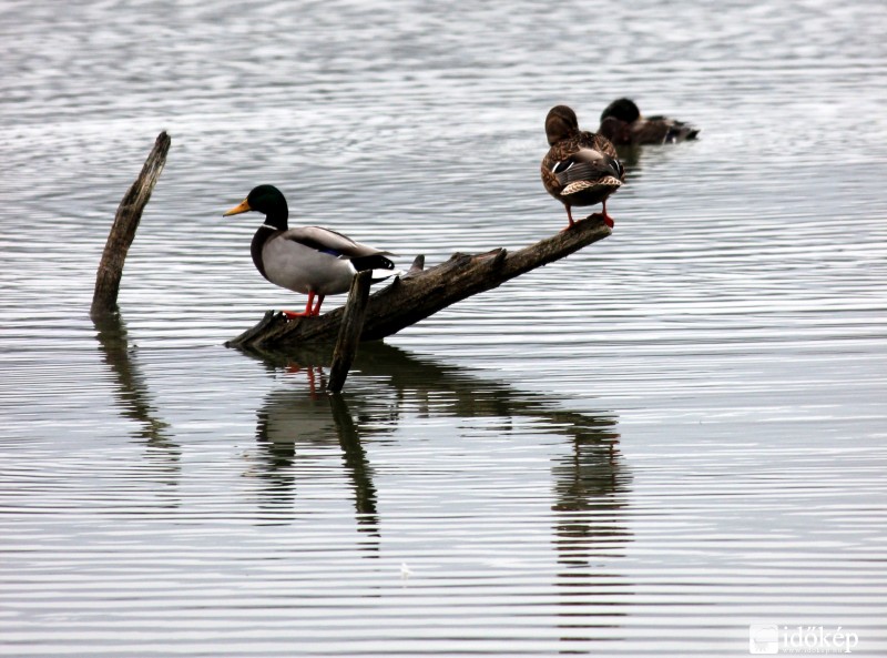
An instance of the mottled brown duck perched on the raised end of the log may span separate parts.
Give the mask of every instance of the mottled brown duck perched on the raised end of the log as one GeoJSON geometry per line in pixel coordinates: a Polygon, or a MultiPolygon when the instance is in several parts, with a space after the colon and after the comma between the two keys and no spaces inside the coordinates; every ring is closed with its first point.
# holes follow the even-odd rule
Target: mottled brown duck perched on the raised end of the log
{"type": "Polygon", "coordinates": [[[567,105],[549,111],[546,134],[551,148],[542,159],[542,184],[567,207],[567,227],[573,225],[573,205],[595,203],[603,204],[603,220],[612,227],[606,198],[625,180],[613,144],[599,134],[579,130],[575,112],[567,105]]]}

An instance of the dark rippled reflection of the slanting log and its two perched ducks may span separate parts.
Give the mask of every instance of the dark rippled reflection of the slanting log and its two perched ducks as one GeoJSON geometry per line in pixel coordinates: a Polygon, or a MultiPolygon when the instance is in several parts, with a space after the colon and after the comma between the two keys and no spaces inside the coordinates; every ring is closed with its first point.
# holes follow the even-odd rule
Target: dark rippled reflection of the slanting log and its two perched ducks
{"type": "Polygon", "coordinates": [[[298,386],[271,393],[258,412],[264,477],[278,489],[278,504],[293,502],[297,459],[307,459],[313,447],[338,446],[358,527],[378,533],[376,487],[364,442],[392,433],[407,414],[500,418],[506,426],[526,418],[564,438],[565,451],[551,468],[552,543],[562,567],[559,585],[579,587],[567,593],[564,605],[573,593],[588,593],[588,571],[598,557],[618,555],[631,539],[620,515],[631,475],[619,453],[614,415],[565,411],[557,397],[521,392],[487,373],[416,357],[384,343],[361,345],[350,391],[328,396],[324,368],[329,358],[325,348],[263,357],[272,372],[304,377],[298,386]]]}

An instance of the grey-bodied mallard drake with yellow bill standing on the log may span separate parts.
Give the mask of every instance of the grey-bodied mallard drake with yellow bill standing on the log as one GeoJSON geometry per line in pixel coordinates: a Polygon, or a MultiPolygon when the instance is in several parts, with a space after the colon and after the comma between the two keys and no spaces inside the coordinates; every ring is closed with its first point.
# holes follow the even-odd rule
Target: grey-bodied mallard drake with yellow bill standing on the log
{"type": "Polygon", "coordinates": [[[253,235],[249,247],[256,270],[281,287],[308,295],[304,312],[284,311],[290,317],[319,315],[324,297],[347,292],[358,272],[395,266],[385,257],[389,252],[354,242],[329,229],[289,229],[286,199],[274,185],[254,188],[223,216],[251,210],[265,215],[265,223],[253,235]]]}

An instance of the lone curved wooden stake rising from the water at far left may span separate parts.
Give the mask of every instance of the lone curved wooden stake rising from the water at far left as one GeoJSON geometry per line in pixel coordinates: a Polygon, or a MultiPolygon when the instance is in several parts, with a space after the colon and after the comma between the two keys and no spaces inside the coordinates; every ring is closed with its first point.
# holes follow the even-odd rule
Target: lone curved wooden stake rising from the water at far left
{"type": "Polygon", "coordinates": [[[170,135],[160,133],[154,141],[154,148],[147,155],[142,172],[135,179],[123,200],[118,206],[114,223],[104,245],[99,271],[95,274],[95,290],[92,294],[90,316],[95,320],[103,315],[113,315],[118,312],[118,294],[120,280],[123,276],[123,263],[135,239],[135,231],[142,219],[142,211],[151,199],[151,192],[157,183],[163,165],[166,164],[166,153],[170,151],[170,135]]]}

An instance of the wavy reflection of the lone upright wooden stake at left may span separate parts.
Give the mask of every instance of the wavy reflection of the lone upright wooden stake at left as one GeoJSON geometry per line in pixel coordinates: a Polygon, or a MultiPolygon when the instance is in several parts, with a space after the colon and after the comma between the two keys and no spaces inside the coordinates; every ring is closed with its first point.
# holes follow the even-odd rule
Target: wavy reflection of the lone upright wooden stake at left
{"type": "Polygon", "coordinates": [[[114,315],[95,318],[93,325],[104,362],[114,374],[116,397],[123,416],[137,424],[135,437],[144,442],[149,460],[161,467],[162,472],[177,476],[182,449],[172,439],[170,426],[160,419],[151,402],[145,378],[132,358],[125,323],[114,315]]]}

